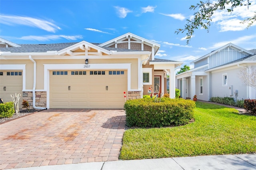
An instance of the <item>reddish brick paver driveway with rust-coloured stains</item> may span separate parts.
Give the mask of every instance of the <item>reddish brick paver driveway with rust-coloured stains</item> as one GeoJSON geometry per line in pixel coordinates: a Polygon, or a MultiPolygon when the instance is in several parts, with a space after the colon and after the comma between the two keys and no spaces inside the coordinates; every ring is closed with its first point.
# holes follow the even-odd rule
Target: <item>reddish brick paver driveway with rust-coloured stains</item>
{"type": "Polygon", "coordinates": [[[0,169],[118,160],[124,110],[48,109],[0,125],[0,169]]]}

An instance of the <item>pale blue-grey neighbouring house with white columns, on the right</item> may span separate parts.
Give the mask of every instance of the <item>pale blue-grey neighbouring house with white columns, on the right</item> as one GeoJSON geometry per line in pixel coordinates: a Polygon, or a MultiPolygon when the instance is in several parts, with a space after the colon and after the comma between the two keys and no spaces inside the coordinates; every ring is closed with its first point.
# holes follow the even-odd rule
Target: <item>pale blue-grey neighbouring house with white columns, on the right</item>
{"type": "Polygon", "coordinates": [[[256,99],[256,89],[245,85],[238,76],[244,67],[256,68],[256,49],[246,50],[229,43],[191,63],[194,69],[176,75],[176,87],[182,98],[197,95],[204,101],[211,97],[256,99]]]}

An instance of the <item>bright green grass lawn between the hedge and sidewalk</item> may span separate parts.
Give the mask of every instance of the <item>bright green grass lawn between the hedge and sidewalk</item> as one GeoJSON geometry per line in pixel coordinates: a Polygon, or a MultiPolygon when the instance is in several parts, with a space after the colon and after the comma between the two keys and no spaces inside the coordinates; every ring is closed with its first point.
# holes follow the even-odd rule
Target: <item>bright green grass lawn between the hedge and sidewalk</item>
{"type": "Polygon", "coordinates": [[[120,159],[147,159],[256,152],[256,117],[196,102],[193,123],[135,128],[124,133],[120,159]]]}

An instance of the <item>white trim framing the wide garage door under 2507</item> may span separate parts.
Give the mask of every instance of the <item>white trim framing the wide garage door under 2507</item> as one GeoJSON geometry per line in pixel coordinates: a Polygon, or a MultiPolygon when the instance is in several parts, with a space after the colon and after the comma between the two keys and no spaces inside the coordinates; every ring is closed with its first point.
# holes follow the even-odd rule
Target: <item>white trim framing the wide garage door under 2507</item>
{"type": "Polygon", "coordinates": [[[126,69],[127,87],[131,91],[131,63],[117,64],[88,64],[90,68],[84,68],[85,64],[44,64],[44,88],[47,92],[46,107],[50,108],[50,70],[94,70],[94,69],[126,69]]]}

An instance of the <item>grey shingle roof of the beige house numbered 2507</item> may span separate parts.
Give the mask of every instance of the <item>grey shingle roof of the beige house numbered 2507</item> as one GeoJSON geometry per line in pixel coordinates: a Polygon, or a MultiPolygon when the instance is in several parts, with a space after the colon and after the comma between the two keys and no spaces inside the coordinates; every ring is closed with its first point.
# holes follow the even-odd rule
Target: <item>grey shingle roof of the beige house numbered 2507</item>
{"type": "MultiPolygon", "coordinates": [[[[50,44],[18,44],[21,47],[9,47],[9,48],[0,48],[0,51],[10,51],[12,53],[43,53],[47,51],[60,51],[71,45],[74,45],[78,42],[72,43],[50,43],[50,44]]],[[[100,45],[100,43],[92,43],[94,45],[100,45]]],[[[132,49],[122,49],[114,47],[101,47],[108,51],[118,51],[118,52],[127,52],[127,51],[138,51],[132,49]]]]}

